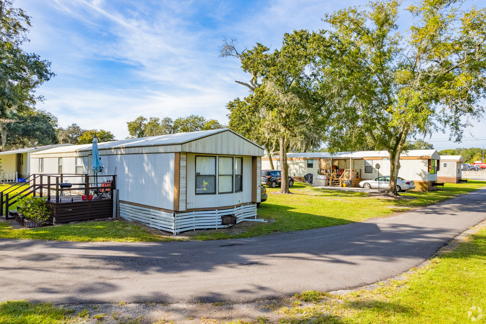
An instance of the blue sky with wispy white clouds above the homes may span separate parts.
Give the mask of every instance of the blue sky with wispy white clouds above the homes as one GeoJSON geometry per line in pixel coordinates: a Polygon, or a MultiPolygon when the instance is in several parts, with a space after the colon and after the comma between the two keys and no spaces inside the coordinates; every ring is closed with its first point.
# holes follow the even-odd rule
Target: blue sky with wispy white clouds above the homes
{"type": "MultiPolygon", "coordinates": [[[[366,1],[367,2],[367,1],[366,1]]],[[[285,32],[317,30],[321,18],[344,5],[365,1],[170,1],[17,0],[32,17],[28,52],[52,61],[57,75],[38,93],[37,107],[52,112],[60,126],[128,135],[126,122],[192,113],[227,122],[225,105],[248,94],[237,59],[218,57],[223,36],[243,49],[261,42],[278,47],[285,32]]],[[[477,2],[480,1],[475,1],[477,2]]],[[[408,16],[401,21],[407,25],[408,16]]],[[[481,141],[449,143],[434,134],[437,149],[486,146],[486,124],[466,134],[481,141]]]]}

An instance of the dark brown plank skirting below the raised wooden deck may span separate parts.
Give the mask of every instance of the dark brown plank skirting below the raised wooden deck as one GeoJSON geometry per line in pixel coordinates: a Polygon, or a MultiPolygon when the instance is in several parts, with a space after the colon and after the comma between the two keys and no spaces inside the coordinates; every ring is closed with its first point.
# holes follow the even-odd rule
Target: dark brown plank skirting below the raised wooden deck
{"type": "Polygon", "coordinates": [[[80,195],[62,196],[59,203],[48,200],[47,209],[51,212],[49,220],[55,217],[56,223],[112,217],[113,199],[82,200],[80,195]]]}

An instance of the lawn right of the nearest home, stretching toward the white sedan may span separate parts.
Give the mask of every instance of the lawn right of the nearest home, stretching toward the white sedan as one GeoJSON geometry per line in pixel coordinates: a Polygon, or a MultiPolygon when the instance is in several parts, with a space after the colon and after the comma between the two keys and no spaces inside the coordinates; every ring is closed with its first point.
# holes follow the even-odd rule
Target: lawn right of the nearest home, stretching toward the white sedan
{"type": "Polygon", "coordinates": [[[279,192],[280,188],[267,188],[268,200],[260,204],[258,216],[268,220],[268,223],[249,224],[239,234],[228,234],[222,230],[200,233],[194,238],[245,238],[348,224],[371,217],[388,216],[411,207],[425,206],[484,186],[486,180],[469,180],[468,183],[461,184],[446,183],[444,189],[439,191],[401,193],[410,199],[377,198],[363,192],[319,189],[302,183],[295,183],[291,188],[294,195],[273,195],[272,192],[279,192]]]}

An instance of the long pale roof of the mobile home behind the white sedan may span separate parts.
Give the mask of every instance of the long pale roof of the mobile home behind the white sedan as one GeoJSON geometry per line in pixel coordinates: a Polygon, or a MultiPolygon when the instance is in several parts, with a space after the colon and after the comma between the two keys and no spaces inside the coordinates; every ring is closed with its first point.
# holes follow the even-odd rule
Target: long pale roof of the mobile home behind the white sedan
{"type": "MultiPolygon", "coordinates": [[[[435,160],[439,160],[436,150],[409,150],[402,152],[400,156],[435,156],[435,160]]],[[[358,151],[358,152],[335,152],[333,154],[329,152],[314,152],[314,153],[287,153],[287,158],[327,158],[327,159],[362,159],[364,157],[383,157],[387,158],[390,155],[388,151],[358,151]]],[[[272,156],[272,158],[278,158],[278,155],[272,156]]]]}

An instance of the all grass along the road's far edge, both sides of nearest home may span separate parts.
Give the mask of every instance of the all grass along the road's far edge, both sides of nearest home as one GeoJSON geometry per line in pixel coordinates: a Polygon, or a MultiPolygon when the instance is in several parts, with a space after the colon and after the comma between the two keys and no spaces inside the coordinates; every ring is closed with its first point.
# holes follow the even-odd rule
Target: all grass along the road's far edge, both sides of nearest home
{"type": "MultiPolygon", "coordinates": [[[[335,191],[314,188],[296,183],[294,195],[273,195],[280,189],[267,188],[268,200],[261,203],[258,216],[266,223],[244,222],[242,233],[231,234],[228,230],[195,232],[194,239],[212,240],[244,238],[276,232],[291,232],[312,228],[348,224],[371,217],[388,216],[395,211],[419,207],[459,194],[467,194],[486,186],[486,181],[469,181],[467,184],[447,183],[445,188],[434,192],[407,192],[409,199],[387,199],[362,192],[335,191]]],[[[231,231],[231,228],[229,229],[231,231]]],[[[154,232],[155,233],[155,232],[154,232]]],[[[0,238],[66,240],[66,241],[172,241],[172,237],[149,232],[127,221],[79,222],[35,229],[13,229],[0,222],[0,238]]],[[[192,235],[189,232],[187,235],[192,235]]]]}

